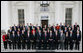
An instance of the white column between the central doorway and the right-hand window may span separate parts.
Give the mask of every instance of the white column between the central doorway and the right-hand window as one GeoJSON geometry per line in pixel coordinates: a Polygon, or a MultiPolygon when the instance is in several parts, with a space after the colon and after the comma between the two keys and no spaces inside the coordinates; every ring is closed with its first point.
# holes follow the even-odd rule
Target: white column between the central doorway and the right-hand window
{"type": "Polygon", "coordinates": [[[60,22],[63,22],[63,18],[61,17],[61,1],[55,1],[55,24],[60,24],[60,22]]]}

